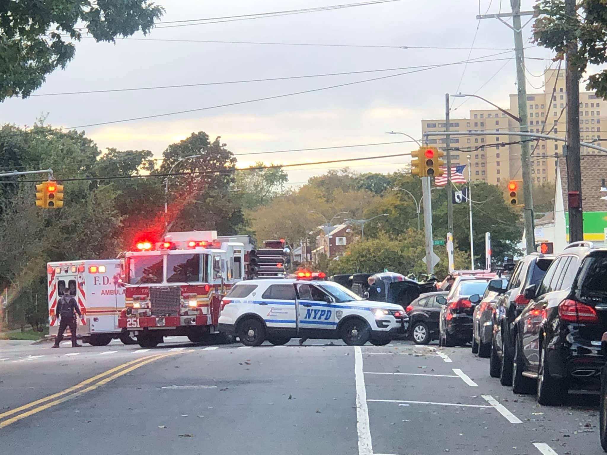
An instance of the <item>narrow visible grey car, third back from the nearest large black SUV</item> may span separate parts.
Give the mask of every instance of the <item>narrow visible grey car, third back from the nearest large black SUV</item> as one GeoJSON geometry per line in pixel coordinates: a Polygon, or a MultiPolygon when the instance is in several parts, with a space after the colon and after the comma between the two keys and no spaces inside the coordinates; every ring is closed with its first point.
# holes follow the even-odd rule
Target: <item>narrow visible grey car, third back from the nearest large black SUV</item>
{"type": "Polygon", "coordinates": [[[472,354],[478,357],[489,357],[491,354],[491,340],[493,338],[493,313],[498,298],[506,292],[507,278],[495,278],[489,281],[481,303],[476,305],[472,314],[474,321],[472,331],[472,354]]]}

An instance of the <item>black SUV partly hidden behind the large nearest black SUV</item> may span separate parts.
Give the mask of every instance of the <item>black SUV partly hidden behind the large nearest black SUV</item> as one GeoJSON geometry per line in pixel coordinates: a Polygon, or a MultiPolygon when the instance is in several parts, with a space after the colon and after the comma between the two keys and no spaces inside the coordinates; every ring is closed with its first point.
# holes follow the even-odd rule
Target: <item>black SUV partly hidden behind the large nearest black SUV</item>
{"type": "Polygon", "coordinates": [[[489,375],[499,377],[501,385],[512,385],[514,348],[510,334],[512,323],[529,303],[523,291],[529,285],[538,285],[554,255],[531,253],[518,261],[506,292],[498,297],[493,313],[493,337],[489,359],[489,375]]]}

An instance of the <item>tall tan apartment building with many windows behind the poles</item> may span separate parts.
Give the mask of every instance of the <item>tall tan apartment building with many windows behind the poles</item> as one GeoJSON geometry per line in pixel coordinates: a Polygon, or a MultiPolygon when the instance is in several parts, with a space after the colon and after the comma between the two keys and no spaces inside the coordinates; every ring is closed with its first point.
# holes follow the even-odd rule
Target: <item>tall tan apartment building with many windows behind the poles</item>
{"type": "MultiPolygon", "coordinates": [[[[548,69],[544,72],[544,92],[527,93],[528,116],[530,132],[547,134],[551,129],[551,135],[565,136],[566,126],[566,93],[565,93],[565,69],[560,72],[556,69],[548,69]],[[554,89],[554,93],[553,93],[554,89]],[[554,128],[553,128],[554,127],[554,128]]],[[[454,101],[458,98],[454,98],[454,101]]],[[[493,101],[493,100],[491,100],[493,101]]],[[[456,104],[458,101],[455,101],[456,104]]],[[[605,122],[605,116],[601,116],[601,104],[605,104],[600,98],[591,92],[580,93],[580,136],[585,142],[601,139],[601,120],[605,122]]],[[[504,107],[504,109],[506,109],[504,107]]],[[[603,106],[607,112],[607,105],[603,106]]],[[[510,95],[510,106],[507,111],[518,115],[517,95],[510,95]]],[[[518,123],[500,112],[498,109],[470,110],[470,118],[450,120],[452,131],[482,131],[502,130],[514,131],[518,129],[518,123]]],[[[422,132],[444,130],[444,120],[422,120],[422,132]]],[[[484,180],[492,184],[506,184],[509,180],[520,179],[521,172],[521,146],[520,144],[506,144],[518,141],[517,136],[495,135],[490,136],[452,136],[452,162],[456,164],[467,164],[467,155],[470,155],[470,172],[472,180],[484,180]]],[[[432,137],[429,144],[446,143],[444,136],[432,137]]],[[[534,183],[541,184],[555,180],[556,155],[562,154],[562,141],[540,140],[529,143],[531,149],[531,176],[534,183]]],[[[600,145],[600,142],[597,143],[600,145]]],[[[582,153],[593,153],[594,150],[582,147],[582,153]]],[[[468,170],[464,171],[467,177],[468,170]]]]}

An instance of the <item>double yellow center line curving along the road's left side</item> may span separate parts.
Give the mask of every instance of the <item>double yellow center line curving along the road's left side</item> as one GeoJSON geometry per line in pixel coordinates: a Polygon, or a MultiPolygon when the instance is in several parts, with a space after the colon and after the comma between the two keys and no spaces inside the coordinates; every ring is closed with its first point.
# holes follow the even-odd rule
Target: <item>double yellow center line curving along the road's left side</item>
{"type": "Polygon", "coordinates": [[[31,403],[27,403],[27,405],[23,405],[23,406],[19,406],[18,408],[11,409],[10,411],[7,411],[5,413],[0,414],[0,418],[1,417],[5,417],[5,416],[10,416],[11,414],[18,413],[19,411],[22,411],[22,410],[27,409],[27,408],[31,408],[32,406],[35,406],[35,405],[37,405],[39,403],[43,403],[43,402],[46,402],[48,400],[52,400],[53,398],[69,394],[70,392],[75,391],[76,389],[81,388],[81,387],[83,387],[83,386],[85,386],[87,384],[90,384],[90,383],[94,382],[95,380],[100,379],[101,377],[107,376],[108,374],[110,374],[112,372],[115,372],[117,370],[120,370],[120,369],[124,368],[125,366],[129,366],[129,365],[132,365],[133,363],[135,363],[135,365],[129,366],[129,368],[123,369],[122,371],[120,371],[120,372],[118,372],[118,373],[116,373],[116,374],[114,374],[112,376],[109,376],[106,379],[103,379],[103,380],[101,380],[100,382],[98,382],[96,384],[88,386],[85,389],[77,391],[76,393],[73,393],[71,395],[65,396],[65,397],[60,398],[58,400],[54,400],[54,401],[52,401],[50,403],[46,403],[46,405],[38,406],[38,408],[31,409],[30,411],[27,411],[25,413],[19,414],[18,416],[12,417],[11,419],[4,420],[4,421],[0,422],[0,428],[4,428],[5,426],[10,425],[11,423],[15,423],[18,420],[24,419],[25,417],[32,416],[33,414],[39,413],[40,411],[43,411],[44,409],[48,409],[48,408],[50,408],[52,406],[58,405],[59,403],[66,402],[69,399],[75,398],[75,397],[80,396],[80,395],[82,395],[84,393],[87,393],[87,392],[89,392],[91,390],[94,390],[94,389],[96,389],[96,388],[98,388],[98,387],[100,387],[100,386],[102,386],[102,385],[110,382],[111,380],[116,379],[117,377],[123,376],[127,372],[133,371],[134,369],[137,369],[140,366],[143,366],[143,365],[146,365],[148,363],[154,362],[154,360],[162,359],[163,357],[173,356],[175,354],[183,354],[185,352],[192,352],[192,349],[190,349],[189,351],[171,352],[171,353],[168,353],[168,354],[158,354],[158,355],[154,355],[154,356],[143,357],[142,359],[131,360],[131,362],[126,362],[126,363],[123,363],[122,365],[116,366],[115,368],[112,368],[112,369],[109,369],[107,371],[104,371],[103,373],[98,374],[97,376],[93,376],[93,377],[91,377],[91,378],[89,378],[87,380],[84,380],[83,382],[78,383],[75,386],[72,386],[72,387],[70,387],[70,388],[68,388],[68,389],[66,389],[66,390],[64,390],[62,392],[59,392],[59,393],[56,393],[56,394],[52,394],[52,395],[49,395],[47,397],[41,398],[39,400],[33,401],[31,403]]]}

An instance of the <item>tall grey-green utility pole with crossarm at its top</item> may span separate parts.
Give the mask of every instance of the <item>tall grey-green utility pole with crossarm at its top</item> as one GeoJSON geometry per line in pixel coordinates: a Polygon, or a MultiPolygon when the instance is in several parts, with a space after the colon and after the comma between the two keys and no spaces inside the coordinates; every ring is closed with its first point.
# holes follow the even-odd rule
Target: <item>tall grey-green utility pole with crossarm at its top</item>
{"type": "MultiPolygon", "coordinates": [[[[525,81],[525,62],[523,51],[523,27],[529,24],[535,15],[534,11],[521,12],[521,0],[510,0],[512,13],[500,13],[491,15],[479,15],[477,19],[495,18],[506,24],[514,32],[514,50],[517,61],[517,92],[518,92],[518,116],[521,119],[520,130],[527,132],[529,121],[527,119],[527,88],[525,81]],[[521,25],[521,16],[532,16],[529,21],[521,25]],[[512,25],[502,18],[512,17],[512,25]]],[[[579,125],[577,125],[579,127],[579,125]]],[[[525,244],[527,254],[535,251],[535,231],[533,214],[533,182],[531,181],[531,161],[529,159],[529,143],[521,143],[521,170],[523,173],[523,198],[524,198],[524,220],[525,220],[525,244]]]]}

